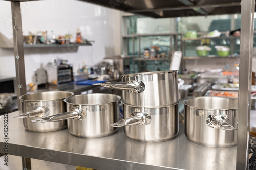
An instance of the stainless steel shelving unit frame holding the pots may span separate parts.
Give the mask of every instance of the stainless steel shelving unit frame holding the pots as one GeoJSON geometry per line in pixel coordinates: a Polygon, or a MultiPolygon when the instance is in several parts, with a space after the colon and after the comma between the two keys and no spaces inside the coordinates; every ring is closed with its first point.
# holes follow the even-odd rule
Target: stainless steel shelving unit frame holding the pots
{"type": "MultiPolygon", "coordinates": [[[[13,21],[13,35],[14,35],[14,57],[15,57],[15,65],[16,65],[16,81],[17,81],[17,96],[26,94],[26,80],[25,80],[25,65],[24,65],[24,47],[23,47],[23,38],[22,38],[22,20],[21,20],[21,12],[20,12],[20,2],[25,0],[16,0],[11,1],[11,8],[12,8],[12,21],[13,21]]],[[[26,0],[27,1],[27,0],[26,0]]],[[[91,2],[96,4],[103,4],[103,6],[109,6],[110,3],[105,1],[84,1],[84,2],[91,2]]],[[[165,3],[166,1],[164,1],[165,3]]],[[[172,3],[175,3],[175,1],[171,1],[172,3]]],[[[190,2],[190,1],[189,1],[190,2]]],[[[137,2],[136,2],[137,3],[137,2]]],[[[159,1],[157,4],[161,4],[163,1],[159,1]]],[[[190,2],[191,3],[191,2],[190,2]]],[[[213,3],[216,3],[215,1],[213,3]]],[[[225,2],[224,2],[225,3],[225,2]]],[[[232,7],[231,9],[235,9],[232,7]]],[[[213,4],[211,7],[219,7],[219,3],[213,4]],[[215,6],[213,6],[215,5],[215,6]]],[[[239,6],[240,2],[236,3],[236,6],[239,6]]],[[[119,4],[118,9],[125,10],[124,4],[119,4]]],[[[129,5],[127,5],[129,6],[129,5]]],[[[228,5],[230,6],[230,5],[228,5]]],[[[137,7],[137,6],[136,6],[137,7]]],[[[138,7],[140,7],[138,5],[138,7]]],[[[184,13],[187,13],[186,10],[192,10],[190,5],[187,5],[185,7],[166,7],[159,8],[160,10],[177,10],[177,8],[180,10],[184,9],[184,13]]],[[[195,7],[192,6],[192,7],[195,7]]],[[[198,7],[198,5],[196,5],[198,7]]],[[[201,6],[201,8],[206,8],[208,6],[201,6]]],[[[223,7],[221,5],[220,7],[223,7]]],[[[224,6],[225,7],[225,6],[224,6]]],[[[157,7],[156,7],[157,8],[157,7]]],[[[200,8],[200,9],[201,9],[200,8]]],[[[74,136],[67,136],[67,131],[58,131],[53,132],[49,134],[53,134],[51,138],[49,138],[48,135],[44,135],[42,133],[28,133],[27,131],[18,129],[20,135],[20,140],[15,140],[18,136],[13,136],[14,140],[10,140],[9,147],[10,147],[10,154],[18,155],[23,157],[23,169],[31,169],[30,164],[30,158],[36,158],[41,160],[47,160],[47,161],[53,161],[53,162],[59,162],[59,163],[67,163],[67,164],[77,164],[80,166],[83,165],[90,165],[91,167],[95,168],[101,168],[105,167],[106,164],[112,167],[112,169],[120,169],[120,167],[126,168],[126,169],[172,169],[172,166],[175,165],[176,167],[179,167],[178,164],[184,165],[183,167],[180,166],[180,168],[190,168],[190,165],[196,165],[195,169],[199,169],[200,166],[203,169],[221,169],[223,166],[231,167],[233,166],[232,163],[236,162],[236,168],[237,169],[248,169],[248,140],[249,140],[249,120],[250,120],[250,99],[251,99],[251,67],[252,67],[252,52],[253,52],[253,29],[254,29],[254,8],[255,8],[255,1],[254,0],[242,0],[242,8],[241,8],[241,47],[240,47],[240,77],[239,77],[239,114],[238,114],[238,143],[237,143],[237,150],[232,150],[231,154],[230,152],[224,152],[223,154],[218,155],[223,150],[228,150],[229,148],[222,148],[221,150],[218,148],[207,148],[207,147],[200,147],[199,149],[190,147],[191,142],[186,140],[184,135],[177,136],[176,139],[179,140],[179,142],[176,142],[177,145],[174,145],[173,147],[166,148],[163,143],[138,143],[138,145],[131,140],[125,138],[121,134],[122,132],[118,132],[117,134],[114,134],[113,136],[109,136],[109,139],[112,139],[113,142],[117,142],[118,145],[105,145],[105,142],[108,142],[108,140],[103,140],[103,142],[100,142],[99,140],[94,139],[81,139],[74,136]],[[60,134],[61,137],[67,137],[67,140],[58,140],[54,134],[60,134]],[[115,135],[119,135],[121,137],[115,138],[115,135]],[[31,141],[30,137],[37,136],[38,138],[35,138],[37,142],[40,143],[40,147],[36,143],[26,143],[27,139],[29,139],[29,142],[31,141]],[[26,137],[24,137],[26,136],[26,137]],[[118,139],[118,140],[116,140],[118,139]],[[120,140],[119,140],[120,139],[120,140]],[[51,142],[53,140],[53,142],[51,142]],[[84,153],[87,152],[89,148],[88,144],[97,144],[96,141],[99,142],[96,149],[99,149],[97,152],[93,150],[92,153],[84,153]],[[125,142],[125,143],[120,143],[125,142]],[[17,142],[21,142],[17,146],[17,142]],[[65,148],[65,145],[69,148],[65,148]],[[126,143],[127,142],[127,143],[126,143]],[[130,143],[129,143],[130,142],[130,143]],[[181,143],[182,144],[181,144],[181,143]],[[23,144],[22,144],[23,143],[23,144]],[[81,144],[82,143],[82,144],[81,144]],[[102,148],[102,145],[104,146],[102,148]],[[160,150],[156,149],[154,146],[158,146],[159,148],[162,148],[160,150]],[[135,148],[136,147],[136,148],[135,148]],[[177,150],[177,147],[180,148],[180,150],[177,150]],[[150,149],[152,148],[152,149],[150,149]],[[190,148],[189,150],[187,150],[190,148]],[[22,150],[20,150],[22,149],[22,150]],[[35,150],[36,149],[36,150],[35,150]],[[125,149],[125,151],[124,151],[125,149]],[[75,151],[74,151],[75,150],[75,151]],[[209,152],[202,152],[207,151],[209,152]],[[45,153],[53,153],[56,154],[54,156],[51,156],[51,159],[48,157],[44,157],[45,153]],[[78,152],[74,154],[74,152],[78,152]],[[160,153],[159,153],[160,152],[160,153]],[[237,154],[236,154],[237,152],[237,154]],[[101,155],[97,155],[96,153],[101,153],[101,155]],[[120,153],[119,155],[115,155],[117,153],[120,153]],[[168,155],[175,153],[174,155],[168,155]],[[202,153],[201,155],[198,155],[198,153],[202,153]],[[207,156],[209,156],[207,153],[210,154],[210,159],[205,160],[207,156]],[[124,159],[123,155],[125,154],[129,159],[124,159]],[[142,154],[142,156],[140,155],[142,154]],[[213,154],[213,155],[211,155],[213,154]],[[236,154],[237,159],[236,161],[230,161],[230,157],[234,156],[236,154]],[[223,158],[223,156],[228,155],[228,157],[223,158]],[[38,156],[41,156],[40,158],[38,156]],[[153,156],[153,159],[152,157],[153,156]],[[27,157],[27,158],[26,158],[27,157]],[[179,159],[179,158],[183,158],[179,159]],[[186,158],[186,159],[184,159],[186,158]],[[142,160],[140,160],[142,159],[142,160]],[[203,161],[205,160],[205,161],[203,161]],[[158,162],[158,163],[156,163],[158,162]],[[231,163],[230,163],[231,162],[231,163]],[[155,166],[153,166],[155,164],[155,166]],[[218,167],[215,167],[216,164],[218,164],[218,167]],[[205,165],[205,166],[203,166],[205,165]],[[148,168],[150,167],[150,168],[148,168]]],[[[126,8],[129,10],[129,8],[126,8]]],[[[236,8],[237,9],[237,8],[236,8]]],[[[142,10],[142,9],[138,9],[142,10]]],[[[137,12],[138,12],[137,10],[137,12]]],[[[147,9],[145,9],[147,10],[147,9]]],[[[145,11],[144,10],[144,11],[145,11]]],[[[155,12],[156,9],[152,8],[150,10],[153,10],[154,16],[160,16],[158,13],[155,12]]],[[[201,9],[202,11],[202,9],[201,9]]],[[[213,14],[219,14],[218,13],[225,12],[228,10],[217,10],[211,13],[213,14]]],[[[131,11],[132,12],[132,11],[131,11]]],[[[134,11],[136,13],[136,11],[134,11]]],[[[200,12],[200,11],[199,11],[200,12]]],[[[172,14],[172,13],[170,13],[172,14]]],[[[180,13],[176,13],[176,15],[180,16],[180,13]]],[[[197,14],[199,15],[199,14],[197,14]]],[[[207,14],[203,14],[207,15],[207,14]]],[[[175,14],[173,15],[175,16],[175,14]]],[[[133,37],[134,38],[134,37],[133,37]]],[[[19,106],[20,109],[20,106],[19,106]]],[[[17,113],[16,113],[17,114],[17,113]]],[[[12,114],[13,115],[13,114],[12,114]]],[[[3,117],[1,117],[3,120],[3,117]]],[[[19,121],[19,124],[21,123],[21,120],[19,121]]],[[[11,123],[11,121],[10,121],[11,123]]],[[[2,125],[2,124],[1,124],[2,125]]],[[[13,123],[10,125],[10,128],[14,128],[14,131],[17,132],[17,124],[13,123]],[[16,129],[15,129],[16,128],[16,129]]],[[[2,129],[3,134],[3,129],[2,129]]],[[[51,135],[50,135],[51,136],[51,135]]],[[[169,143],[175,143],[175,140],[171,140],[169,143]]],[[[1,148],[4,146],[4,142],[0,142],[1,148]]],[[[157,148],[158,148],[157,147],[157,148]]],[[[3,152],[3,150],[2,150],[3,152]]],[[[232,158],[233,159],[233,158],[232,158]]],[[[173,168],[177,169],[177,168],[173,168]]],[[[224,167],[225,169],[225,167],[224,167]]],[[[232,169],[234,169],[232,167],[232,169]]]]}

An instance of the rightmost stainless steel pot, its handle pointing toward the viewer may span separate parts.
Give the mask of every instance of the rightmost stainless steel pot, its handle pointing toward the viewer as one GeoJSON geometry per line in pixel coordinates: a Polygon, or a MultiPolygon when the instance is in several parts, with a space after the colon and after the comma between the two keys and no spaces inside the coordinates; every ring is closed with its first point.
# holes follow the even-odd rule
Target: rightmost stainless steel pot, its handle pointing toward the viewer
{"type": "Polygon", "coordinates": [[[197,97],[183,101],[185,135],[194,143],[208,147],[237,144],[238,100],[197,97]]]}

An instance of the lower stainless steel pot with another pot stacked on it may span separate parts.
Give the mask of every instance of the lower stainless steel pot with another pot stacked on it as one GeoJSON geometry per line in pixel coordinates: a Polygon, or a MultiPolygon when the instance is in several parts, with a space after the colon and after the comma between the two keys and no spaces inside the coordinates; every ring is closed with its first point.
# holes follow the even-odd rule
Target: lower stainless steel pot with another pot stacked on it
{"type": "Polygon", "coordinates": [[[123,104],[124,119],[110,126],[124,126],[125,135],[143,142],[160,142],[178,134],[179,104],[140,107],[123,104]]]}

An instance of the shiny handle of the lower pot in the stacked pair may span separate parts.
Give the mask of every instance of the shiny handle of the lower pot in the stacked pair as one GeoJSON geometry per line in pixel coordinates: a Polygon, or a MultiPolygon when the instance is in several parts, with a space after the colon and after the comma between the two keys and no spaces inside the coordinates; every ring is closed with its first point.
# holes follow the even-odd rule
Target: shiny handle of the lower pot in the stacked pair
{"type": "Polygon", "coordinates": [[[114,124],[110,124],[109,126],[120,128],[123,126],[130,126],[130,125],[136,125],[136,124],[148,125],[151,123],[151,116],[146,112],[133,112],[132,115],[134,116],[124,118],[114,124]]]}

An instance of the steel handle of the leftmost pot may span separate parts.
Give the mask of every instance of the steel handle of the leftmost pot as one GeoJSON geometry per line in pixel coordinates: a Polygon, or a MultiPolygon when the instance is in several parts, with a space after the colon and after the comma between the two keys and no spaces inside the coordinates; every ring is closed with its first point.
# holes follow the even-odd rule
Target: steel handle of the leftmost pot
{"type": "Polygon", "coordinates": [[[31,118],[31,117],[44,117],[49,115],[50,109],[46,106],[36,106],[33,110],[15,116],[14,118],[31,118]]]}

